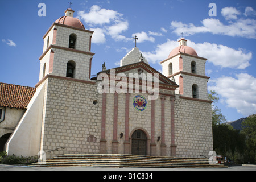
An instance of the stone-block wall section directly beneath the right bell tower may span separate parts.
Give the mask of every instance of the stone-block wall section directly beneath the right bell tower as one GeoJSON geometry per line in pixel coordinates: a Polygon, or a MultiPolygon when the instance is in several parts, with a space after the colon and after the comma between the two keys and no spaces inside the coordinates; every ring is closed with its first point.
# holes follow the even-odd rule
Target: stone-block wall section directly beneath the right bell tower
{"type": "Polygon", "coordinates": [[[211,104],[176,97],[175,144],[179,157],[208,156],[213,150],[211,104]]]}

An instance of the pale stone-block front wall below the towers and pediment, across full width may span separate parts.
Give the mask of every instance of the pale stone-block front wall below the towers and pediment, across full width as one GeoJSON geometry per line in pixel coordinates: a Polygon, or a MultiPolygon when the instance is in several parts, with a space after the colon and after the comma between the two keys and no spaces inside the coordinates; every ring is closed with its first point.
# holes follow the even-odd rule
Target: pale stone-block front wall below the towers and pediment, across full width
{"type": "MultiPolygon", "coordinates": [[[[212,150],[211,105],[207,102],[181,99],[176,96],[174,106],[175,133],[171,133],[171,93],[160,95],[157,100],[148,100],[148,94],[129,94],[129,123],[126,127],[125,93],[106,94],[102,107],[102,94],[97,92],[99,82],[73,81],[72,78],[47,79],[48,86],[44,107],[44,131],[42,148],[44,151],[66,147],[57,154],[99,154],[100,140],[105,142],[106,154],[126,154],[125,143],[130,146],[133,131],[141,129],[147,135],[147,155],[171,156],[171,140],[174,135],[176,156],[200,157],[212,150]],[[146,97],[147,108],[135,110],[133,98],[138,94],[146,97]],[[97,104],[93,101],[97,100],[97,104]],[[154,126],[152,128],[152,103],[154,103],[154,126]],[[164,109],[162,109],[164,106],[164,109]],[[105,127],[102,126],[102,109],[106,109],[105,127]],[[115,109],[118,109],[115,112],[115,109]],[[164,113],[163,113],[164,112],[164,113]],[[117,127],[114,117],[117,114],[117,127]],[[102,135],[104,130],[104,135],[102,135]],[[120,134],[124,136],[120,138],[120,134]],[[115,137],[114,137],[115,135],[115,137]],[[153,136],[153,137],[152,137],[153,136]],[[159,141],[157,138],[161,137],[159,141]],[[102,138],[103,137],[103,138],[102,138]],[[113,142],[117,148],[113,148],[113,142]],[[128,142],[128,143],[127,143],[128,142]],[[151,153],[154,144],[154,154],[151,153]]],[[[162,93],[162,92],[160,92],[162,93]]]]}

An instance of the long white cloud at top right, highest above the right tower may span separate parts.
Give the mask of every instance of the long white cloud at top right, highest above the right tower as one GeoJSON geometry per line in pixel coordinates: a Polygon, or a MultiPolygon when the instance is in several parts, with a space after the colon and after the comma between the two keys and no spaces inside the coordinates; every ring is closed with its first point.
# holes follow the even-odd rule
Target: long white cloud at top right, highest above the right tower
{"type": "MultiPolygon", "coordinates": [[[[250,12],[249,10],[247,10],[247,14],[250,12]]],[[[193,23],[184,24],[182,22],[172,21],[170,28],[177,35],[180,35],[180,32],[184,32],[185,36],[210,32],[212,34],[256,39],[255,19],[238,18],[237,15],[239,15],[240,12],[232,7],[225,7],[221,12],[222,15],[229,20],[228,24],[220,22],[219,19],[207,18],[201,21],[203,26],[195,26],[193,23]]]]}

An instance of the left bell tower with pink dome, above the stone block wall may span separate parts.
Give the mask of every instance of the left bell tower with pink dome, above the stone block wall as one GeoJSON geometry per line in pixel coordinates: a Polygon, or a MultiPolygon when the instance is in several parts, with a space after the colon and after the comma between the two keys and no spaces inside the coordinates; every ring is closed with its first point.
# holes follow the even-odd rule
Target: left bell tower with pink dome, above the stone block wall
{"type": "Polygon", "coordinates": [[[43,36],[39,81],[47,75],[90,80],[94,53],[90,51],[93,31],[74,18],[71,8],[43,36]]]}

